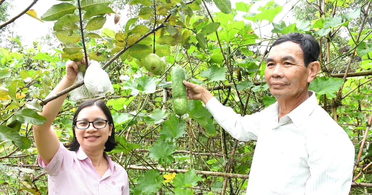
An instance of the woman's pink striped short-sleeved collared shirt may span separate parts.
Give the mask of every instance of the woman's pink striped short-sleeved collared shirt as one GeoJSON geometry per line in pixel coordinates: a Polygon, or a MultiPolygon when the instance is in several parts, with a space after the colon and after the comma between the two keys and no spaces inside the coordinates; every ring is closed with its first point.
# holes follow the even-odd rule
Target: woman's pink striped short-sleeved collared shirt
{"type": "Polygon", "coordinates": [[[129,195],[128,174],[105,154],[109,169],[99,177],[83,150],[67,150],[62,143],[48,165],[39,158],[39,165],[48,173],[49,195],[129,195]]]}

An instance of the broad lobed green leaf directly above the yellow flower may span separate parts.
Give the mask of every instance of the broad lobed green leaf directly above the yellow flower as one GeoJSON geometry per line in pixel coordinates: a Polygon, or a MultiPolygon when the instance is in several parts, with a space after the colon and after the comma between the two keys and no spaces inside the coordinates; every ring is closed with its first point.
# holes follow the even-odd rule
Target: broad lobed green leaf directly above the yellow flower
{"type": "Polygon", "coordinates": [[[148,156],[158,160],[159,164],[163,164],[164,162],[169,164],[173,161],[172,154],[174,153],[175,148],[175,145],[158,139],[154,145],[148,149],[148,156]]]}

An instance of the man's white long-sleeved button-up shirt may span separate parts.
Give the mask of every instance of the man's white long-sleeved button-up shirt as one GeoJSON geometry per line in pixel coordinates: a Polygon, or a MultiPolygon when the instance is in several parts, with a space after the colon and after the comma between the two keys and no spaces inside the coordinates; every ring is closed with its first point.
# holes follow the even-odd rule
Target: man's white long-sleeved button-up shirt
{"type": "Polygon", "coordinates": [[[278,121],[278,102],[242,117],[216,98],[205,107],[239,141],[257,140],[247,195],[348,195],[355,149],[315,93],[278,121]]]}

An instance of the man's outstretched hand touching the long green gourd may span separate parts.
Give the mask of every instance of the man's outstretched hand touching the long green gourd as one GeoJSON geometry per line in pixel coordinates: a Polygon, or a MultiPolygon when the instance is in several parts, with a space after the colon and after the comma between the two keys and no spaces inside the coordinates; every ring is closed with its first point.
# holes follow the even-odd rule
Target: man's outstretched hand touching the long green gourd
{"type": "Polygon", "coordinates": [[[200,85],[187,81],[183,81],[183,84],[186,86],[188,100],[202,100],[203,103],[206,104],[211,98],[213,98],[211,92],[200,85]]]}

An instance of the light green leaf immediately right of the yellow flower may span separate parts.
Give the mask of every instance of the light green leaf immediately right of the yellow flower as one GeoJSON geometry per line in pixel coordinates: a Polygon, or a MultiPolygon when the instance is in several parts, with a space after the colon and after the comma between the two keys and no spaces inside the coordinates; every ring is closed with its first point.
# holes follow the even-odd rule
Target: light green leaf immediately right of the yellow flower
{"type": "Polygon", "coordinates": [[[172,185],[174,188],[186,188],[198,185],[198,181],[201,181],[200,176],[198,177],[195,173],[195,170],[191,169],[186,173],[178,173],[174,177],[172,185]]]}

